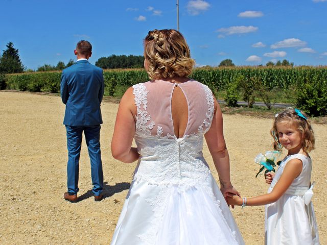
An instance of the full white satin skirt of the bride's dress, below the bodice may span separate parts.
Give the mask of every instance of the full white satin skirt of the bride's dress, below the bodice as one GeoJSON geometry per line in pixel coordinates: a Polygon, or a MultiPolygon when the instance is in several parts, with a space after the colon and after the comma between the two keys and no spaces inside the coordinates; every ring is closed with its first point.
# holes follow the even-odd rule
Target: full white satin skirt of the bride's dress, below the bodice
{"type": "Polygon", "coordinates": [[[213,176],[194,186],[133,180],[111,245],[244,244],[213,176]]]}

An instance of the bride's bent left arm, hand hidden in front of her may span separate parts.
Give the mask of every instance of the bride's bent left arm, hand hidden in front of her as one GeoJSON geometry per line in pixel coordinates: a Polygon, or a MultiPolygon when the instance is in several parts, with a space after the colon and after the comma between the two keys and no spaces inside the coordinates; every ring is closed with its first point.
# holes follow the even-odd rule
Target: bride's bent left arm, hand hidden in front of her
{"type": "Polygon", "coordinates": [[[112,156],[122,162],[131,163],[138,159],[137,149],[132,146],[135,134],[136,106],[133,88],[127,89],[119,104],[111,140],[112,156]]]}

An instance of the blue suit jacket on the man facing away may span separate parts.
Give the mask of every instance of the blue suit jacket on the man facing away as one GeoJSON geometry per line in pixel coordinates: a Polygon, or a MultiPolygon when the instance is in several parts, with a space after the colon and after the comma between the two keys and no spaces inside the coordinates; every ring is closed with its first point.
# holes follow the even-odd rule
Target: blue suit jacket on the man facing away
{"type": "Polygon", "coordinates": [[[100,104],[104,93],[103,71],[86,60],[62,71],[60,94],[66,105],[63,124],[96,126],[102,124],[100,104]]]}

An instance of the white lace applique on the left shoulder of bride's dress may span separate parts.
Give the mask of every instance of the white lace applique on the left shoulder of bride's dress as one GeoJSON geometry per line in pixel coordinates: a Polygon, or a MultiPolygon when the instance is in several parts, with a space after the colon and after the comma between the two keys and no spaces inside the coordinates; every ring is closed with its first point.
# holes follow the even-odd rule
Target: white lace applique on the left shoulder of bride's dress
{"type": "Polygon", "coordinates": [[[139,83],[133,86],[133,94],[135,95],[135,105],[137,108],[136,115],[136,131],[142,132],[145,135],[151,135],[150,130],[153,129],[154,121],[151,121],[150,124],[147,125],[148,121],[150,121],[150,115],[147,112],[147,91],[144,84],[139,83]]]}

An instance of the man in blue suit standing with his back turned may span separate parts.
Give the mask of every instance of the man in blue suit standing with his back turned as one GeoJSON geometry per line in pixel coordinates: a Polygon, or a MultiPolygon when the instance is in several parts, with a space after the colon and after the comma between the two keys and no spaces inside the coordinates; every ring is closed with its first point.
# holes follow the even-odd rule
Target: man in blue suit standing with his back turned
{"type": "Polygon", "coordinates": [[[91,161],[94,185],[92,192],[95,201],[101,201],[103,171],[100,151],[100,104],[104,92],[103,71],[88,62],[92,55],[92,46],[88,41],[79,41],[74,53],[77,61],[62,71],[60,82],[61,99],[66,105],[63,124],[66,126],[68,149],[68,191],[64,193],[64,199],[70,202],[78,200],[79,158],[84,131],[91,161]]]}

